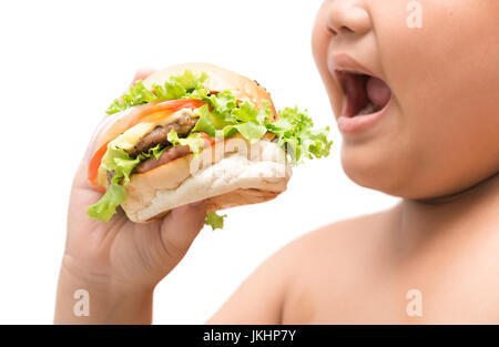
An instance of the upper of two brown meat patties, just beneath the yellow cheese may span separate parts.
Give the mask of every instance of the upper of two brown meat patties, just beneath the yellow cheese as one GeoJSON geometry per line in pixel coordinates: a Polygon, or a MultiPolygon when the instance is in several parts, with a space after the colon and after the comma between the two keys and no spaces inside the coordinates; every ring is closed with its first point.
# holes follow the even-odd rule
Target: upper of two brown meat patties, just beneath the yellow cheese
{"type": "Polygon", "coordinates": [[[166,139],[167,134],[174,130],[179,137],[187,135],[196,125],[197,118],[191,116],[187,112],[183,113],[175,122],[154,127],[152,132],[142,137],[142,140],[129,152],[130,156],[136,157],[139,154],[147,152],[159,144],[170,145],[166,139]]]}

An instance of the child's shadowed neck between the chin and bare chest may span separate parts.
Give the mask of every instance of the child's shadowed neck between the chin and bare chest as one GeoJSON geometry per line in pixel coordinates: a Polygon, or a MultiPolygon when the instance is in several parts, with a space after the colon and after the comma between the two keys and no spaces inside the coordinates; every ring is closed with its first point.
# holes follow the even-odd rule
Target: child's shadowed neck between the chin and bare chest
{"type": "Polygon", "coordinates": [[[403,200],[394,211],[397,228],[408,246],[447,231],[470,233],[499,224],[499,173],[451,195],[403,200]]]}

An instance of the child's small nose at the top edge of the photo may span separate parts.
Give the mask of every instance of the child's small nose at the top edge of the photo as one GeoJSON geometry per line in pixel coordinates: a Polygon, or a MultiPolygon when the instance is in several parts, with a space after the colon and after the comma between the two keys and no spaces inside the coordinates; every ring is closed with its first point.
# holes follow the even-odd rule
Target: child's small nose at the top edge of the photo
{"type": "Polygon", "coordinates": [[[335,34],[363,35],[371,29],[363,0],[333,0],[327,9],[327,27],[335,34]]]}

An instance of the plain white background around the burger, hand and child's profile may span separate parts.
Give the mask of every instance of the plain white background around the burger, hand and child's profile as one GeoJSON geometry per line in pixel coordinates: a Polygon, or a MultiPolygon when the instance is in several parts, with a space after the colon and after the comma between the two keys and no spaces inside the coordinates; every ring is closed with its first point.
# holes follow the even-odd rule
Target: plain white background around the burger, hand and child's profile
{"type": "Polygon", "coordinates": [[[318,0],[2,1],[0,323],[52,322],[74,170],[138,68],[206,61],[330,125],[330,157],[277,200],[227,212],[156,288],[154,322],[201,324],[266,257],[320,225],[391,206],[350,182],[310,52],[318,0]]]}

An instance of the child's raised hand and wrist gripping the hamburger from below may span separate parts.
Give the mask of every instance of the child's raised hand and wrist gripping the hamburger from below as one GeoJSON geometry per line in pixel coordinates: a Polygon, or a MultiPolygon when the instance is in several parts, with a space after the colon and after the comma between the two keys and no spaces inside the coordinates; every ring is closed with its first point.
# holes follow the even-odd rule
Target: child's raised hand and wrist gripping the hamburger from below
{"type": "MultiPolygon", "coordinates": [[[[135,80],[143,76],[138,73],[135,80]]],[[[91,306],[89,317],[78,323],[131,322],[132,317],[147,322],[152,292],[183,258],[203,227],[205,205],[201,202],[182,206],[149,224],[129,221],[123,211],[108,223],[94,221],[86,210],[102,193],[91,188],[86,169],[84,159],[71,191],[55,322],[74,322],[73,295],[78,289],[89,292],[91,306]],[[142,316],[131,312],[136,309],[142,310],[142,316]]]]}

